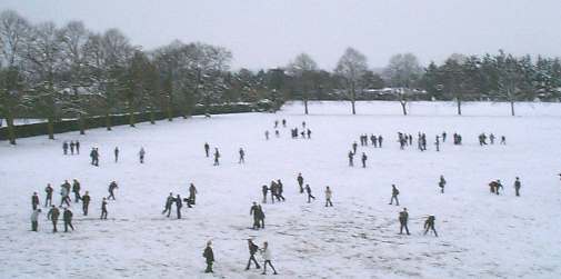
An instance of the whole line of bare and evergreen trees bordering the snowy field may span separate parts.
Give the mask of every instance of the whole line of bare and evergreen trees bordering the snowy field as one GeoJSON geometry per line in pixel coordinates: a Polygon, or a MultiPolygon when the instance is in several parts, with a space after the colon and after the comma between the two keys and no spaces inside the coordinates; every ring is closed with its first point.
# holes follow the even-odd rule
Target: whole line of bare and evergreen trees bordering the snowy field
{"type": "MultiPolygon", "coordinates": [[[[468,100],[508,100],[514,114],[519,100],[559,101],[559,58],[497,54],[452,54],[443,63],[422,67],[412,53],[393,56],[380,71],[369,68],[360,51],[348,48],[332,70],[320,69],[307,53],[285,66],[252,71],[231,70],[232,53],[220,46],[179,40],[153,50],[134,46],[118,29],[93,32],[81,21],[61,28],[32,24],[14,11],[0,12],[0,117],[16,143],[13,120],[47,119],[49,138],[62,118],[157,111],[189,117],[196,106],[230,102],[355,100],[368,89],[392,88],[407,114],[408,101],[424,98],[455,100],[458,113],[468,100]]],[[[153,121],[152,121],[153,122],[153,121]]]]}

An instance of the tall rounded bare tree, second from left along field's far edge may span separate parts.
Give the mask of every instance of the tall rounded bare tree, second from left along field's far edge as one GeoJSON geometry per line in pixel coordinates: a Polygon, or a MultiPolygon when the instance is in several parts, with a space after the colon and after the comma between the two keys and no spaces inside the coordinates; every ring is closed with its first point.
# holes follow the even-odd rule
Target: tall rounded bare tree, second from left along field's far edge
{"type": "Polygon", "coordinates": [[[367,70],[367,57],[353,48],[347,48],[337,63],[335,73],[342,77],[344,87],[350,93],[352,114],[357,114],[354,108],[357,87],[367,70]]]}

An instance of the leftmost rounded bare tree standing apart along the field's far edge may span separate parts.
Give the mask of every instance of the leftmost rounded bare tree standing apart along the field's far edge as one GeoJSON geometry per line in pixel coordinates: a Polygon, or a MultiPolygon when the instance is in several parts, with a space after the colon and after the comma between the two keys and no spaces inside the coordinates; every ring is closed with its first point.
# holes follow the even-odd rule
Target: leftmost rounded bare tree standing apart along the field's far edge
{"type": "Polygon", "coordinates": [[[302,101],[304,103],[304,113],[308,114],[309,90],[313,86],[313,73],[318,70],[318,63],[307,53],[300,53],[294,61],[287,67],[289,74],[293,76],[300,83],[302,90],[302,101]]]}

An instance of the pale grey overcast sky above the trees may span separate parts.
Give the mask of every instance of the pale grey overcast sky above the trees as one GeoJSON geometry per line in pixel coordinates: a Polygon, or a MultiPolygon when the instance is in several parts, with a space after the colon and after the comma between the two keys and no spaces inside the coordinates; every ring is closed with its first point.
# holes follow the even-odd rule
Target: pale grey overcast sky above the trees
{"type": "Polygon", "coordinates": [[[561,0],[0,0],[40,22],[119,28],[153,49],[173,39],[227,47],[233,68],[284,66],[300,52],[331,70],[347,47],[373,68],[399,52],[561,56],[561,0]]]}

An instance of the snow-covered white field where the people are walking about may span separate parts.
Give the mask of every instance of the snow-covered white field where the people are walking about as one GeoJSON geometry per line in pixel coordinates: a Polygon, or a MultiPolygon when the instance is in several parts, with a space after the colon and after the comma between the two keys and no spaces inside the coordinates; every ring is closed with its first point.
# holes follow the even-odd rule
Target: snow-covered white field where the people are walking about
{"type": "MultiPolygon", "coordinates": [[[[278,278],[560,278],[561,277],[561,106],[523,103],[522,117],[509,117],[508,104],[470,103],[457,117],[453,103],[410,104],[400,116],[395,102],[312,102],[272,113],[194,117],[138,128],[117,127],[36,137],[17,147],[0,142],[0,278],[211,278],[202,273],[207,240],[213,240],[214,277],[261,278],[244,271],[248,237],[268,240],[278,278]],[[276,119],[289,128],[305,120],[312,139],[266,141],[276,119]],[[441,152],[431,145],[448,131],[441,152]],[[427,132],[429,150],[399,150],[398,131],[427,132]],[[460,132],[463,146],[453,146],[460,132]],[[507,146],[480,147],[477,136],[507,136],[507,146]],[[359,147],[368,168],[349,168],[347,152],[360,133],[382,134],[382,149],[359,147]],[[63,140],[79,139],[80,156],[62,156],[63,140]],[[203,143],[219,147],[221,166],[204,157],[203,143]],[[112,161],[119,146],[121,159],[112,161]],[[99,147],[100,167],[89,165],[89,148],[99,147]],[[140,147],[147,163],[138,163],[140,147]],[[238,165],[238,149],[247,151],[238,165]],[[295,177],[302,172],[318,198],[305,203],[295,177]],[[439,193],[444,175],[447,192],[439,193]],[[512,182],[522,180],[521,197],[512,182]],[[30,197],[43,202],[47,182],[56,189],[77,178],[92,196],[90,215],[72,203],[76,231],[52,233],[46,210],[39,232],[30,231],[30,197]],[[261,186],[284,183],[282,203],[263,205],[267,229],[251,230],[249,209],[261,200],[261,186]],[[501,179],[504,195],[487,186],[501,179]],[[119,183],[109,220],[100,221],[100,200],[111,180],[119,183]],[[160,215],[170,191],[198,190],[198,202],[183,219],[160,215]],[[391,183],[401,191],[400,207],[389,206],[391,183]],[[323,207],[323,189],[333,190],[333,208],[323,207]],[[400,236],[398,212],[410,212],[411,236],[400,236]],[[439,238],[422,235],[428,215],[437,217],[439,238]]],[[[358,165],[358,163],[357,163],[358,165]]],[[[59,230],[62,222],[59,221],[59,230]]]]}

